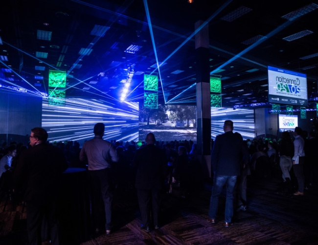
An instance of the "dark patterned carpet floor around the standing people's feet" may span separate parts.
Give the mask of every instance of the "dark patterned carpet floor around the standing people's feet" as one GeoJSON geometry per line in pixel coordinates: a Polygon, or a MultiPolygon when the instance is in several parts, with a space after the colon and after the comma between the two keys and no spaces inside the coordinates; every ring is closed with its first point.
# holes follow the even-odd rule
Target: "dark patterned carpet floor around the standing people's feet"
{"type": "MultiPolygon", "coordinates": [[[[140,213],[134,189],[117,190],[114,196],[114,229],[65,241],[64,245],[318,245],[318,185],[304,196],[283,196],[280,181],[266,180],[248,186],[247,211],[236,212],[233,225],[224,226],[225,190],[220,197],[218,222],[206,221],[211,184],[188,198],[165,194],[160,228],[139,229],[140,213]]],[[[27,244],[25,206],[3,194],[0,202],[0,245],[27,244]]],[[[101,211],[101,216],[103,213],[101,211]]],[[[71,231],[74,227],[68,227],[71,231]]],[[[80,234],[77,234],[78,237],[80,234]]],[[[43,244],[48,244],[44,242],[43,244]]]]}

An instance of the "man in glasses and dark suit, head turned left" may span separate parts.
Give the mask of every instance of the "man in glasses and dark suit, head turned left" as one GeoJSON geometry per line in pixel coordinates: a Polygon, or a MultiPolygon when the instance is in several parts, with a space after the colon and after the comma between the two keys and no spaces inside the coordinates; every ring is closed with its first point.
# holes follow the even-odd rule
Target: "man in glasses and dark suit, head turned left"
{"type": "Polygon", "coordinates": [[[24,185],[27,232],[30,245],[41,245],[41,225],[45,218],[52,244],[59,245],[56,199],[61,174],[68,168],[63,152],[46,144],[47,132],[41,127],[31,129],[30,148],[18,161],[14,172],[14,188],[24,185]]]}

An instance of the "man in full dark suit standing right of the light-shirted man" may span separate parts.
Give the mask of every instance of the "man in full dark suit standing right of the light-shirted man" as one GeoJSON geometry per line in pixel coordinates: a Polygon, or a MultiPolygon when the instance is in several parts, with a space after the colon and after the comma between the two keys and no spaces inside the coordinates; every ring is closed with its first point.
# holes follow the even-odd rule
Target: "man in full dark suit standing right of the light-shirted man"
{"type": "Polygon", "coordinates": [[[146,147],[136,151],[134,166],[136,168],[136,183],[138,203],[141,212],[142,225],[140,228],[150,231],[150,213],[155,229],[159,228],[158,213],[163,187],[165,166],[165,152],[155,146],[156,138],[153,133],[146,136],[146,147]]]}

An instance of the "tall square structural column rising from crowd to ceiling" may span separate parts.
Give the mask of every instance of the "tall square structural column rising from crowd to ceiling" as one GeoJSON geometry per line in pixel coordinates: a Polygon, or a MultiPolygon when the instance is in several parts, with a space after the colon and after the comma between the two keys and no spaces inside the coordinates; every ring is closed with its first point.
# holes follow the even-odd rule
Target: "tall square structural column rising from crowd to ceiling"
{"type": "Polygon", "coordinates": [[[197,73],[197,147],[205,177],[211,177],[211,108],[208,24],[198,21],[195,35],[197,73]]]}

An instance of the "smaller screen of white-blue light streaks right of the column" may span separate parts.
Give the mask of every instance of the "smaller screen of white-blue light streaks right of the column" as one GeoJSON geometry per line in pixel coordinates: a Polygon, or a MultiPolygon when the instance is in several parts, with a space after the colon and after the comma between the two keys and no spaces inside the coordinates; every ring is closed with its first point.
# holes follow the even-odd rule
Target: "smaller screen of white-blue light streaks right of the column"
{"type": "Polygon", "coordinates": [[[238,132],[244,140],[255,138],[254,110],[232,108],[211,108],[211,138],[223,134],[224,121],[231,120],[234,124],[233,132],[238,132]]]}

